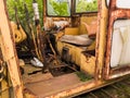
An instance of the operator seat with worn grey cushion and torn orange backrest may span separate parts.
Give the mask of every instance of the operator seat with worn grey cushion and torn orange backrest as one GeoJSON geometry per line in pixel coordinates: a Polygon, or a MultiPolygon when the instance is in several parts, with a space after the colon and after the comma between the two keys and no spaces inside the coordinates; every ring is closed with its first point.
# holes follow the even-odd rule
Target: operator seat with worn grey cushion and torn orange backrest
{"type": "Polygon", "coordinates": [[[84,22],[82,22],[81,24],[86,26],[88,34],[75,35],[75,36],[64,35],[63,37],[61,37],[60,41],[76,45],[76,46],[83,46],[83,47],[90,46],[94,41],[96,36],[98,22],[92,21],[90,25],[84,22]]]}

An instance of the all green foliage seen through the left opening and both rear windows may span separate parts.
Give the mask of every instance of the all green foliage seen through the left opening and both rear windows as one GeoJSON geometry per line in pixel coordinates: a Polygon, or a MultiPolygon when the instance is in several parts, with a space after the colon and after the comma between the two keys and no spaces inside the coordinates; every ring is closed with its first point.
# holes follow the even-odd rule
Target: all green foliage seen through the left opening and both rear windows
{"type": "MultiPolygon", "coordinates": [[[[42,0],[36,0],[39,7],[40,22],[42,25],[42,0]]],[[[29,20],[34,21],[32,0],[6,0],[8,11],[11,21],[15,21],[14,8],[17,8],[17,15],[23,26],[26,23],[26,13],[24,4],[27,5],[29,20]]],[[[93,12],[98,11],[98,0],[76,0],[76,12],[93,12]]],[[[58,16],[70,15],[69,0],[48,0],[48,14],[58,16]]]]}

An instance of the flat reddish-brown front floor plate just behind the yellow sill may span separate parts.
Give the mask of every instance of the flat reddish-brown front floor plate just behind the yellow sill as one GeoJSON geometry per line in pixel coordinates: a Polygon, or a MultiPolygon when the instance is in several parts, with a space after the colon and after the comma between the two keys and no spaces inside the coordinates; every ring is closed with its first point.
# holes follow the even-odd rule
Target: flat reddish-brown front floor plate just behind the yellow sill
{"type": "Polygon", "coordinates": [[[39,81],[26,84],[25,87],[29,93],[32,93],[37,97],[43,98],[49,95],[54,95],[60,91],[73,88],[73,86],[81,83],[79,77],[75,73],[52,77],[47,81],[39,81]]]}

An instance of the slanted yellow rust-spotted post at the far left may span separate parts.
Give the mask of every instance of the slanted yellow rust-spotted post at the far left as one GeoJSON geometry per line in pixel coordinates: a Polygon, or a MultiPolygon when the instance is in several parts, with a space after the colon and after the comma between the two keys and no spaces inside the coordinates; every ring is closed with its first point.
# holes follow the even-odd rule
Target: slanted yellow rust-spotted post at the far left
{"type": "Polygon", "coordinates": [[[23,87],[22,87],[22,81],[20,77],[18,61],[16,56],[16,50],[14,48],[15,45],[14,45],[13,35],[12,35],[5,7],[6,7],[5,1],[1,0],[1,3],[0,3],[1,49],[4,56],[3,59],[8,64],[11,81],[14,87],[15,97],[23,98],[23,87]]]}

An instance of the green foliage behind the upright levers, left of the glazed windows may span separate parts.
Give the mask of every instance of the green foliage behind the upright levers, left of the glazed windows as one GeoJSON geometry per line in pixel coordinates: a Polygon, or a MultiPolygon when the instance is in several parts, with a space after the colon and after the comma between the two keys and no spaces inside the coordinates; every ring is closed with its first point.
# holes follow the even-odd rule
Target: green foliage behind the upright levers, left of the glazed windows
{"type": "MultiPolygon", "coordinates": [[[[40,21],[42,22],[42,0],[37,0],[38,7],[39,7],[39,13],[40,13],[40,21]]],[[[32,10],[32,0],[6,0],[9,16],[11,21],[15,21],[15,10],[14,8],[17,8],[17,15],[21,21],[21,24],[24,26],[26,23],[26,12],[25,7],[27,5],[29,19],[32,22],[34,21],[34,10],[32,10]]]]}

